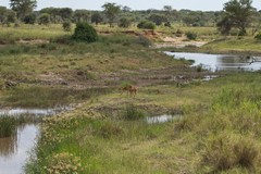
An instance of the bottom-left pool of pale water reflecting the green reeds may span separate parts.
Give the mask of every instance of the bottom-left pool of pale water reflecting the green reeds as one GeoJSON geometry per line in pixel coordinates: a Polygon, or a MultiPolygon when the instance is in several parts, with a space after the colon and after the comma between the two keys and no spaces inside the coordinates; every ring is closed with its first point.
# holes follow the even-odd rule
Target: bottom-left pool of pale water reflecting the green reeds
{"type": "Polygon", "coordinates": [[[37,125],[20,126],[17,134],[0,138],[0,174],[21,174],[28,157],[28,151],[36,144],[37,125]]]}

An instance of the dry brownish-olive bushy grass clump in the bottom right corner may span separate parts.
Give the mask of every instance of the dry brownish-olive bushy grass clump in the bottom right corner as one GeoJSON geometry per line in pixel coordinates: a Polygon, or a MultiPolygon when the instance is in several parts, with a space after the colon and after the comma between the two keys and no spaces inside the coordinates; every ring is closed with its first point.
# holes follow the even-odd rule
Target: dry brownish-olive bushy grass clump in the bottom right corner
{"type": "Polygon", "coordinates": [[[202,162],[215,172],[237,166],[250,170],[259,156],[254,141],[246,137],[223,134],[210,138],[206,144],[202,162]]]}

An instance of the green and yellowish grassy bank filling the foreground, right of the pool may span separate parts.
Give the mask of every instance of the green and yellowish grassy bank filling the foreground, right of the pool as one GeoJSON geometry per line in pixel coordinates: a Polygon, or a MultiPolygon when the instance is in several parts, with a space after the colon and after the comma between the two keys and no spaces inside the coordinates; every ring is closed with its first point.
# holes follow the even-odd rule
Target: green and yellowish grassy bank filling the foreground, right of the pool
{"type": "Polygon", "coordinates": [[[57,161],[77,159],[71,170],[78,173],[259,173],[259,76],[151,86],[136,98],[101,96],[45,121],[27,172],[66,171],[57,161]],[[135,110],[130,120],[126,103],[135,110]],[[162,111],[183,116],[163,124],[142,119],[162,111]]]}

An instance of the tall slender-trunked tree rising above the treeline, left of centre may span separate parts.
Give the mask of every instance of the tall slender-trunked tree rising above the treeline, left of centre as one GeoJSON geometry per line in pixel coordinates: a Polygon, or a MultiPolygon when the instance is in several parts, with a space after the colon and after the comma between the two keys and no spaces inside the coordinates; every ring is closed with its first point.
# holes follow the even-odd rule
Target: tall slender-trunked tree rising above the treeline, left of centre
{"type": "Polygon", "coordinates": [[[104,9],[105,16],[109,20],[110,27],[112,27],[116,15],[121,12],[121,7],[116,5],[116,3],[107,2],[102,5],[102,8],[104,9]]]}

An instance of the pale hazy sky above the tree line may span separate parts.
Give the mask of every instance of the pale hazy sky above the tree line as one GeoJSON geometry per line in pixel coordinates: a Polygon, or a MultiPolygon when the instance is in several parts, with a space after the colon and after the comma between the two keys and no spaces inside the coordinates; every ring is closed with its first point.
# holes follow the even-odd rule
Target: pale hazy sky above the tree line
{"type": "MultiPolygon", "coordinates": [[[[201,11],[220,11],[228,0],[37,0],[37,10],[42,8],[72,8],[87,10],[102,10],[105,2],[114,2],[127,5],[133,10],[162,9],[163,5],[172,5],[173,9],[189,9],[201,11]]],[[[0,0],[0,5],[9,7],[9,0],[0,0]]],[[[252,5],[261,10],[261,1],[253,0],[252,5]]]]}

